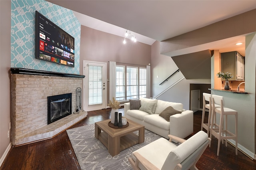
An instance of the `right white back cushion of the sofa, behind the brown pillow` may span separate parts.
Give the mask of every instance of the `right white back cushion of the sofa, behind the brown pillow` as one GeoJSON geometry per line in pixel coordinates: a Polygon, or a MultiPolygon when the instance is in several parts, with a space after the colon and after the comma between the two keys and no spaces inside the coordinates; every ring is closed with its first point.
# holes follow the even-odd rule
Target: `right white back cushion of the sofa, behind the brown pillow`
{"type": "Polygon", "coordinates": [[[162,111],[164,111],[164,109],[166,109],[169,106],[173,107],[173,109],[175,109],[177,111],[181,111],[181,112],[183,111],[182,103],[174,103],[174,102],[169,102],[169,101],[158,100],[155,113],[160,114],[160,113],[162,113],[162,111]]]}

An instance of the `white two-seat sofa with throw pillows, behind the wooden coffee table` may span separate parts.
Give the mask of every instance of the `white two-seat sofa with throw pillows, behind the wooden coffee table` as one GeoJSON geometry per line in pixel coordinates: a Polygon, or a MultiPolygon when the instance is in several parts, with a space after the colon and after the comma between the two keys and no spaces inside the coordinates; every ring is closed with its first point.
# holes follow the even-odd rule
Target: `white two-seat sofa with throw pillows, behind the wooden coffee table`
{"type": "Polygon", "coordinates": [[[147,98],[130,100],[129,103],[124,103],[124,117],[144,125],[146,129],[164,138],[168,138],[168,134],[185,138],[193,133],[193,111],[183,109],[182,103],[147,98]],[[170,112],[176,114],[172,115],[170,112]]]}

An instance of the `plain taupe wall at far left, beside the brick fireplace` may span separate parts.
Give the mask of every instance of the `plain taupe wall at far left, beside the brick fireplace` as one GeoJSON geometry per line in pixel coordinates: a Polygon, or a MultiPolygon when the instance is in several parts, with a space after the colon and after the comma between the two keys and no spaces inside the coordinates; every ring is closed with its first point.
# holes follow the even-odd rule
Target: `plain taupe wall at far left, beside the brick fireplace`
{"type": "Polygon", "coordinates": [[[0,158],[10,144],[11,1],[0,0],[0,158]]]}

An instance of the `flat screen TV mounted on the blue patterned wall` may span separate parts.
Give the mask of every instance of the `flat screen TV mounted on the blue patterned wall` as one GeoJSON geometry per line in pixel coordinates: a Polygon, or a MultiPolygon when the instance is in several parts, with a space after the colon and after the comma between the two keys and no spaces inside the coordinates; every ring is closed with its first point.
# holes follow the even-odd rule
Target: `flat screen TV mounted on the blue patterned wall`
{"type": "Polygon", "coordinates": [[[75,67],[75,39],[36,11],[36,58],[75,67]]]}

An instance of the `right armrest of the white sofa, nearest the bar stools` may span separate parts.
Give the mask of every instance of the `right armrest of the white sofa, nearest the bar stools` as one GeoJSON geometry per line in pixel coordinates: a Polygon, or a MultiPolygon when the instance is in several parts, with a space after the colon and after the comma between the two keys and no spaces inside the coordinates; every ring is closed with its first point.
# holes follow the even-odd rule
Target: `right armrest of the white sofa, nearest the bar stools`
{"type": "Polygon", "coordinates": [[[186,110],[181,114],[170,116],[170,134],[186,138],[193,133],[193,111],[186,110]]]}

